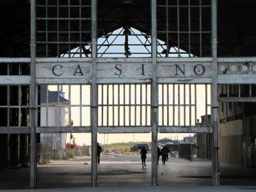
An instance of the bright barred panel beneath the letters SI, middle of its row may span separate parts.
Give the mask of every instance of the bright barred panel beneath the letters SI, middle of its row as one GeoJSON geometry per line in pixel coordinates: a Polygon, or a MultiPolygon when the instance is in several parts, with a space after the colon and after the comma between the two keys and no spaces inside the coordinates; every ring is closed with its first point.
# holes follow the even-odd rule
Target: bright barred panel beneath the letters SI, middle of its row
{"type": "Polygon", "coordinates": [[[150,84],[98,84],[98,126],[150,126],[150,84]]]}

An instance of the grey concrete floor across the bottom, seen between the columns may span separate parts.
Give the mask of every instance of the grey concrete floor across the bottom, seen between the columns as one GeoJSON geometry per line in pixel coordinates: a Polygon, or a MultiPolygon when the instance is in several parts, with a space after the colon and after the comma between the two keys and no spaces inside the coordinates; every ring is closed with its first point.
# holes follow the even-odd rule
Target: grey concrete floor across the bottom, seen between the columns
{"type": "MultiPolygon", "coordinates": [[[[100,188],[125,186],[151,186],[151,157],[142,168],[138,153],[133,155],[110,154],[101,156],[97,183],[100,188]]],[[[91,159],[79,157],[71,160],[52,161],[37,168],[37,188],[84,188],[91,186],[91,159]]],[[[256,185],[256,169],[220,164],[221,186],[256,185]]],[[[159,161],[159,186],[211,186],[211,161],[177,157],[166,164],[159,161]]],[[[29,168],[4,170],[0,175],[0,189],[28,189],[29,168]]],[[[92,188],[91,188],[92,189],[92,188]]],[[[254,189],[254,188],[252,188],[254,189]]],[[[256,189],[256,188],[255,188],[256,189]]],[[[73,189],[72,189],[73,190],[73,189]]]]}

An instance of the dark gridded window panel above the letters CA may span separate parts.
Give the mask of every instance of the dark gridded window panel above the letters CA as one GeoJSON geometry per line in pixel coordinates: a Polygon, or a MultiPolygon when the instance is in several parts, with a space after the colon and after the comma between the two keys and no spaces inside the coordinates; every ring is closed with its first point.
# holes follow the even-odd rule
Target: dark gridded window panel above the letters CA
{"type": "Polygon", "coordinates": [[[36,56],[88,57],[91,1],[36,1],[36,56]]]}

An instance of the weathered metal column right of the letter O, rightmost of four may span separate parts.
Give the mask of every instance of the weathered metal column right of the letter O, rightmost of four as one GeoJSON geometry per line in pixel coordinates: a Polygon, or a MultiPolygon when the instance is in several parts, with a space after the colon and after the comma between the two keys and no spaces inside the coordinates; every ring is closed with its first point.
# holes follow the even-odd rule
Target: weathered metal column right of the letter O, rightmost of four
{"type": "Polygon", "coordinates": [[[212,17],[212,186],[220,185],[220,116],[218,103],[217,0],[211,1],[212,17]]]}

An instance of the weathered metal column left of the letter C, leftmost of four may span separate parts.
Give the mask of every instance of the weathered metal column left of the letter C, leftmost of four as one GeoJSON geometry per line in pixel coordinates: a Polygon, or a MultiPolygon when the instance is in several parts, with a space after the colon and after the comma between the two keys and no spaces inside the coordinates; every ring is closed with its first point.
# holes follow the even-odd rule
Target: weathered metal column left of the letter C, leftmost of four
{"type": "Polygon", "coordinates": [[[29,97],[30,97],[30,110],[29,110],[29,122],[31,128],[30,134],[30,188],[36,188],[36,83],[35,83],[35,57],[36,57],[36,4],[35,0],[30,1],[30,26],[31,26],[31,39],[30,39],[30,77],[31,84],[29,88],[29,97]]]}

